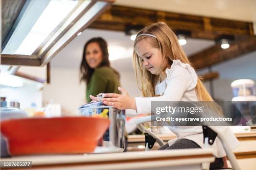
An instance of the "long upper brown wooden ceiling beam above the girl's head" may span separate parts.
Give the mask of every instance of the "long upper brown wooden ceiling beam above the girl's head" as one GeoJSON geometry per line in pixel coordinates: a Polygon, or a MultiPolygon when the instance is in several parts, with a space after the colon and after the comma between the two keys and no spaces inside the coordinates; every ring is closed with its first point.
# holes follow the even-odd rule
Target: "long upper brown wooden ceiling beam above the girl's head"
{"type": "Polygon", "coordinates": [[[219,35],[253,35],[253,23],[237,20],[169,13],[113,5],[100,15],[89,28],[124,31],[125,26],[165,22],[175,30],[187,30],[192,38],[214,40],[219,35]]]}

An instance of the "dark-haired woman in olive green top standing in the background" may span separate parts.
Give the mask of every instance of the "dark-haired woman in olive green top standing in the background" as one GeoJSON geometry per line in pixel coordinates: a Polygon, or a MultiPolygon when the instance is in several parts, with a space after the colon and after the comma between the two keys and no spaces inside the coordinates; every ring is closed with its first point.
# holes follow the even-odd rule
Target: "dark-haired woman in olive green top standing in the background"
{"type": "Polygon", "coordinates": [[[101,37],[90,39],[84,45],[80,65],[80,82],[86,83],[86,100],[90,95],[103,93],[118,93],[120,86],[119,73],[110,67],[108,60],[108,44],[101,37]]]}

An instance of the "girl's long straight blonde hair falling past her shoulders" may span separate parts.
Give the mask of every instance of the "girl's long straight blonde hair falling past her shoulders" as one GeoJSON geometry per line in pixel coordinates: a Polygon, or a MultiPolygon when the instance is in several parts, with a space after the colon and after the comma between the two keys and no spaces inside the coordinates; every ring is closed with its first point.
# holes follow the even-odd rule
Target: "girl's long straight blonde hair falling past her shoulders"
{"type": "MultiPolygon", "coordinates": [[[[189,65],[190,62],[182,50],[182,47],[179,45],[179,41],[174,32],[163,22],[154,23],[149,25],[146,28],[143,28],[138,32],[137,37],[134,41],[134,49],[137,43],[143,39],[148,40],[151,47],[158,48],[161,51],[163,57],[166,57],[169,63],[173,60],[180,60],[183,63],[189,65]],[[140,34],[151,34],[156,38],[141,35],[140,34]]],[[[163,63],[163,60],[162,60],[163,63]]],[[[136,82],[139,89],[142,92],[143,97],[154,97],[156,83],[160,80],[160,75],[153,75],[145,67],[143,67],[143,62],[139,59],[135,50],[133,50],[133,67],[136,74],[136,82]]],[[[161,65],[161,71],[165,71],[166,67],[161,65]]],[[[200,101],[213,101],[210,94],[207,92],[205,86],[203,85],[201,78],[197,78],[197,85],[195,87],[198,100],[200,101]]]]}

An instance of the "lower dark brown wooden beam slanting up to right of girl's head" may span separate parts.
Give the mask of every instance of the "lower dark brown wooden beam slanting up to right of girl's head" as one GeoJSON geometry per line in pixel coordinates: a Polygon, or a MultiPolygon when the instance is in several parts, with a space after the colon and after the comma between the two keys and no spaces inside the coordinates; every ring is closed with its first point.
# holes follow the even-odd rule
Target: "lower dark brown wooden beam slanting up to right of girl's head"
{"type": "Polygon", "coordinates": [[[222,49],[220,44],[209,47],[197,54],[189,56],[189,60],[196,70],[209,67],[220,62],[230,60],[256,50],[256,36],[237,36],[236,41],[230,43],[228,49],[222,49]]]}

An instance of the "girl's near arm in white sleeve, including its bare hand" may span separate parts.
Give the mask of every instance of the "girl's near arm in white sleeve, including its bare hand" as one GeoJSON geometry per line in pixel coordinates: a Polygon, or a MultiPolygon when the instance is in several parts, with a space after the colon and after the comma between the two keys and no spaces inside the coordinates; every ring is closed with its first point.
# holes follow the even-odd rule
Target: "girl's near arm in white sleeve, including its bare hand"
{"type": "Polygon", "coordinates": [[[172,74],[167,77],[167,86],[163,96],[134,98],[130,97],[123,88],[118,87],[122,95],[105,94],[106,97],[111,98],[104,98],[103,102],[118,109],[134,109],[138,114],[146,114],[151,112],[151,101],[180,101],[191,82],[192,77],[187,68],[177,65],[172,74]]]}

